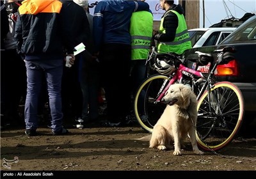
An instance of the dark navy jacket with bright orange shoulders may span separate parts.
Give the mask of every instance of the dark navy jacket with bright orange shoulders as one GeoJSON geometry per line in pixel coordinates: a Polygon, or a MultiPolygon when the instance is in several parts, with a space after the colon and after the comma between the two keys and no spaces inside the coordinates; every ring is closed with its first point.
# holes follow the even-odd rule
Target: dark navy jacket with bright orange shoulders
{"type": "MultiPolygon", "coordinates": [[[[40,59],[52,59],[74,53],[70,22],[64,19],[70,13],[57,0],[25,0],[19,7],[15,26],[17,52],[40,59]]],[[[27,59],[27,58],[26,58],[27,59]]]]}

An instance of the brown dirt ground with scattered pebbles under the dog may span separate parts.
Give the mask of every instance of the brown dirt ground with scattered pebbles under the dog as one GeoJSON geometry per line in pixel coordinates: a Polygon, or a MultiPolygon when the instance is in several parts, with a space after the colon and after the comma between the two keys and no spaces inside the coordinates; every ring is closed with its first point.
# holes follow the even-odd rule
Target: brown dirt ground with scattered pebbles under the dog
{"type": "MultiPolygon", "coordinates": [[[[64,121],[65,122],[65,121],[64,121]]],[[[255,127],[246,128],[222,150],[195,155],[189,141],[181,156],[173,150],[148,148],[136,141],[147,135],[138,125],[100,127],[97,123],[52,136],[47,125],[40,136],[26,137],[24,127],[1,131],[1,173],[5,171],[256,171],[255,127]]]]}

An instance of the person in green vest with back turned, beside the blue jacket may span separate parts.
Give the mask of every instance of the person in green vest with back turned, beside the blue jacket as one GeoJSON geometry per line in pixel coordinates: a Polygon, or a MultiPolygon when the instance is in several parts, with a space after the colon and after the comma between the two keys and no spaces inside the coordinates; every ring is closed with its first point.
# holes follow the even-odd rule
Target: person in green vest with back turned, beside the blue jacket
{"type": "MultiPolygon", "coordinates": [[[[132,38],[131,86],[134,98],[138,87],[147,77],[146,61],[150,47],[154,45],[152,13],[147,11],[132,13],[130,34],[132,38]]],[[[139,106],[139,113],[140,111],[142,108],[139,106]]]]}

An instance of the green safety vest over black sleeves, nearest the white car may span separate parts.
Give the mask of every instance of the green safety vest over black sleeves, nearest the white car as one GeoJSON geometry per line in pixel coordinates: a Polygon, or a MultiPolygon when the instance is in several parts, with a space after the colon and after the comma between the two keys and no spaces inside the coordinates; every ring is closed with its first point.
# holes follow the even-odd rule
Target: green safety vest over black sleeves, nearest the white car
{"type": "MultiPolygon", "coordinates": [[[[173,10],[170,10],[170,11],[175,13],[179,20],[179,24],[176,29],[176,35],[173,42],[158,42],[157,52],[175,52],[177,54],[182,54],[187,49],[192,48],[191,41],[188,34],[188,27],[186,25],[186,21],[183,14],[179,14],[178,12],[173,10]]],[[[168,12],[166,12],[165,15],[168,12]]],[[[163,27],[164,17],[161,19],[159,33],[165,33],[165,29],[163,27]]]]}

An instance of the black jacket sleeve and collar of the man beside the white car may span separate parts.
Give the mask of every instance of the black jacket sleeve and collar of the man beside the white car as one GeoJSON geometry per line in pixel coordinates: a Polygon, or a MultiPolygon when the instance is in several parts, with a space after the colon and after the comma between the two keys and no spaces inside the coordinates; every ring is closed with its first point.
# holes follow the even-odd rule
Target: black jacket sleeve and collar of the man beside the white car
{"type": "Polygon", "coordinates": [[[180,13],[180,14],[184,14],[184,9],[182,8],[182,6],[180,6],[180,4],[176,5],[173,4],[172,7],[170,7],[168,10],[166,10],[166,12],[164,13],[164,15],[166,15],[164,17],[164,15],[162,16],[162,18],[164,17],[164,22],[163,22],[163,27],[166,31],[166,33],[157,33],[154,36],[155,40],[159,40],[161,42],[172,42],[175,38],[176,35],[176,29],[179,25],[179,20],[177,15],[175,15],[175,13],[173,12],[168,12],[170,10],[175,10],[176,12],[180,13]]]}

